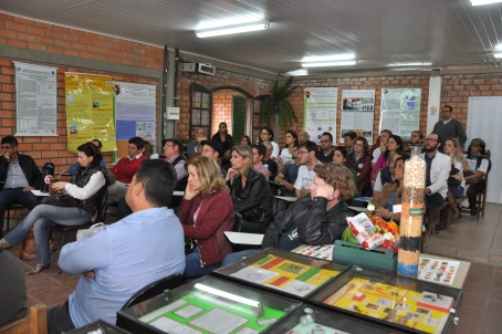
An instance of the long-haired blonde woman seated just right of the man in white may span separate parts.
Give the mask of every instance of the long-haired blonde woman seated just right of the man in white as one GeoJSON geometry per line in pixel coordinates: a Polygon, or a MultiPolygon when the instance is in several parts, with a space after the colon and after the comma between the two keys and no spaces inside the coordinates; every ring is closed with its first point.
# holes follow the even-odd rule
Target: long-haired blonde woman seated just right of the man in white
{"type": "MultiPolygon", "coordinates": [[[[460,217],[462,217],[462,215],[457,207],[456,199],[463,196],[463,190],[466,189],[463,170],[469,169],[469,164],[462,154],[460,143],[456,138],[448,138],[445,142],[443,150],[445,154],[450,156],[451,159],[450,177],[448,178],[447,200],[450,205],[451,211],[453,212],[453,218],[459,219],[460,217]]],[[[446,221],[443,225],[446,228],[446,221]]],[[[442,226],[440,226],[438,229],[442,230],[443,228],[442,226]]]]}

